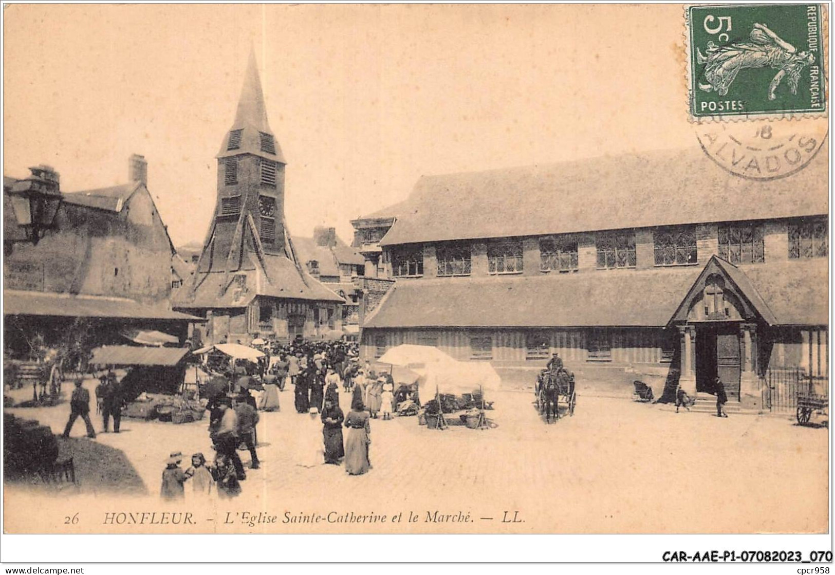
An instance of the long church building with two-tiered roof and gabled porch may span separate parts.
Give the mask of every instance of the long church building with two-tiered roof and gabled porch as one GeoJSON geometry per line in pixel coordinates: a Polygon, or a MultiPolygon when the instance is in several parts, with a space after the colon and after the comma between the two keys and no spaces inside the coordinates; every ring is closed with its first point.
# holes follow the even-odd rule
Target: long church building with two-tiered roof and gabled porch
{"type": "Polygon", "coordinates": [[[764,181],[701,149],[423,177],[397,214],[353,222],[396,279],[361,353],[437,346],[533,386],[559,352],[578,385],[721,376],[757,409],[769,371],[827,373],[827,182],[824,153],[764,181]]]}

